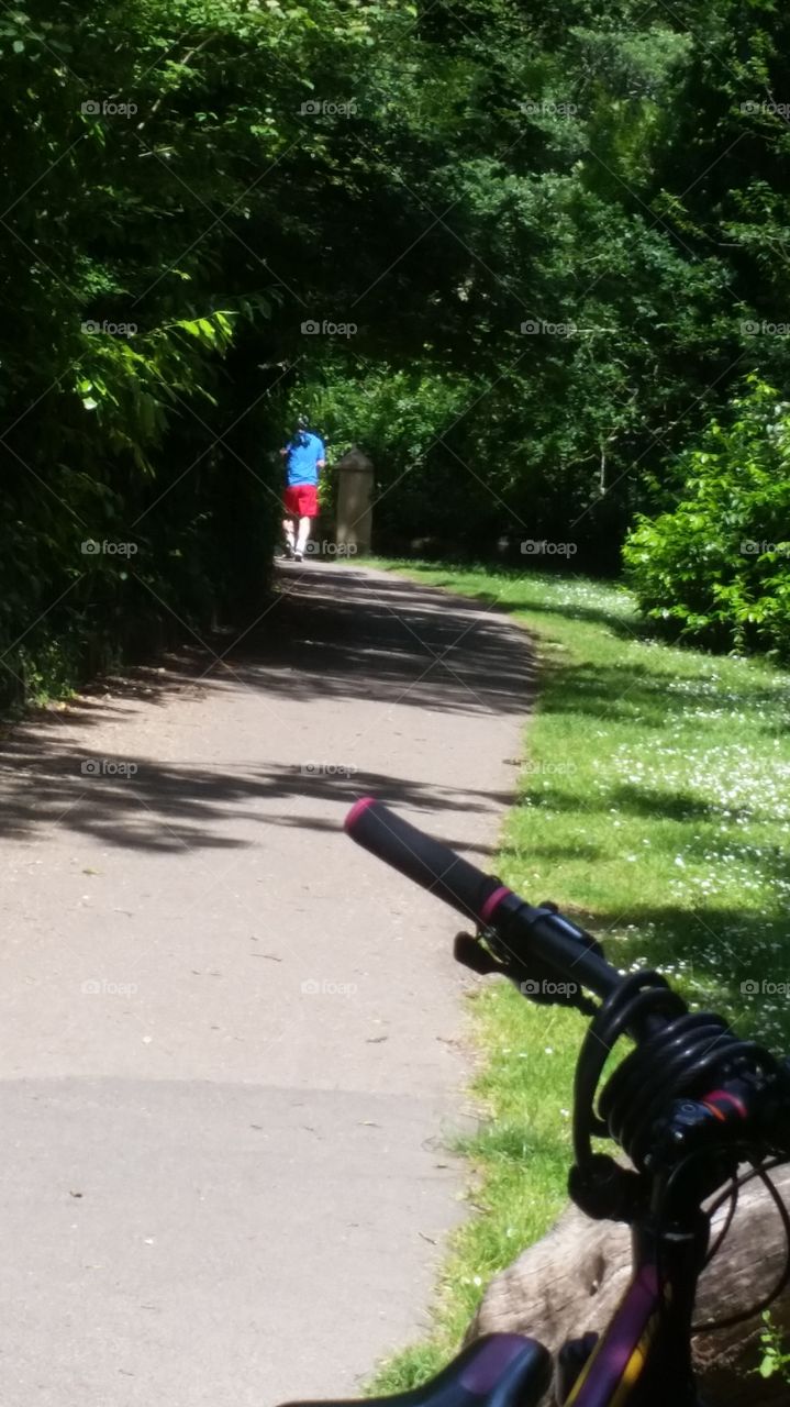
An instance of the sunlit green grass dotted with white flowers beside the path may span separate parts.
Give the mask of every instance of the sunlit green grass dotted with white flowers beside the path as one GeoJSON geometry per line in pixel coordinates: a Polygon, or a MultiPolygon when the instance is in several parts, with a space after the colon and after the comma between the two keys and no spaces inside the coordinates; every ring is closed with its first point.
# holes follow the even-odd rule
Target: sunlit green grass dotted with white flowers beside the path
{"type": "MultiPolygon", "coordinates": [[[[656,965],[693,1007],[790,1048],[790,675],[651,639],[613,584],[377,564],[512,612],[534,637],[540,694],[502,879],[554,899],[619,968],[656,965]]],[[[582,1030],[506,985],[475,995],[474,1090],[491,1114],[462,1145],[475,1214],[451,1245],[433,1334],[380,1369],[377,1392],[446,1362],[486,1282],[565,1200],[582,1030]]]]}

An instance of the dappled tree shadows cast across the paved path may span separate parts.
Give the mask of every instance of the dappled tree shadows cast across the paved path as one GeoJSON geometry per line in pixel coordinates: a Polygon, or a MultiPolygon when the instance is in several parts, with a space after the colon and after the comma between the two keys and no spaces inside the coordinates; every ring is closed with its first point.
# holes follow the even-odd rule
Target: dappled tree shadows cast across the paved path
{"type": "MultiPolygon", "coordinates": [[[[311,563],[283,578],[281,595],[243,637],[212,635],[160,664],[104,677],[67,708],[39,711],[10,730],[0,741],[1,833],[25,840],[35,827],[58,826],[103,844],[179,854],[260,844],[266,826],[336,830],[365,792],[429,813],[488,815],[510,799],[409,775],[316,768],[302,761],[304,734],[294,739],[292,764],[264,760],[264,732],[260,763],[236,765],[108,757],[91,743],[94,726],[115,723],[122,744],[141,704],[202,699],[207,691],[238,692],[239,685],[261,701],[346,698],[474,716],[527,712],[533,666],[524,632],[465,601],[358,571],[311,563]],[[328,817],[328,802],[337,802],[337,819],[328,817]]],[[[318,733],[316,722],[311,751],[318,733]]],[[[450,844],[475,850],[453,837],[451,822],[448,832],[450,844]]]]}

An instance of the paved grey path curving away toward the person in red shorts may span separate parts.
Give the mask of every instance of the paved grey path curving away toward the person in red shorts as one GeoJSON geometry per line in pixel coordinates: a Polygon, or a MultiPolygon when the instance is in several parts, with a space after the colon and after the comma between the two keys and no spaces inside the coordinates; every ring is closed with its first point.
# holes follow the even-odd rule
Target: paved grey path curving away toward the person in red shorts
{"type": "Polygon", "coordinates": [[[224,660],[0,747],[3,1407],[349,1393],[426,1324],[455,923],[340,823],[371,791],[484,857],[529,649],[382,573],[281,580],[224,660]]]}

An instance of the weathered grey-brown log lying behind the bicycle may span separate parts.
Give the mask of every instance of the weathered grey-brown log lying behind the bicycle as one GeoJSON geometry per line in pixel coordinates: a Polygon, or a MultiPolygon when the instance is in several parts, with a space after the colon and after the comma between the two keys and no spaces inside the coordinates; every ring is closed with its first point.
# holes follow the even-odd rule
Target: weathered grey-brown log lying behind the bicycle
{"type": "MultiPolygon", "coordinates": [[[[783,1200],[790,1193],[790,1168],[772,1173],[783,1200]]],[[[714,1217],[711,1245],[727,1207],[714,1217]]],[[[739,1196],[735,1220],[711,1266],[704,1272],[696,1320],[725,1318],[763,1299],[784,1268],[787,1247],[775,1203],[759,1179],[739,1196]]],[[[481,1334],[519,1332],[541,1339],[552,1352],[566,1338],[600,1332],[623,1294],[631,1269],[630,1230],[589,1221],[569,1207],[537,1245],[524,1251],[485,1292],[467,1341],[481,1334]]],[[[772,1306],[775,1323],[790,1327],[790,1290],[772,1306]]],[[[760,1316],[744,1324],[694,1335],[700,1393],[711,1407],[782,1407],[790,1387],[779,1376],[746,1376],[760,1361],[760,1316]]],[[[544,1399],[545,1407],[552,1401],[544,1399]]]]}

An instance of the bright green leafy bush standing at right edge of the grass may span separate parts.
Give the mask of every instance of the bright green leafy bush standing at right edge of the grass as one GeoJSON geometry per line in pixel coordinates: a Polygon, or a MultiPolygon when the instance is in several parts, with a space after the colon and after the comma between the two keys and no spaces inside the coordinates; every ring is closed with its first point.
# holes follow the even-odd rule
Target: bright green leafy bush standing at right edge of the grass
{"type": "Polygon", "coordinates": [[[682,498],[624,547],[647,616],[715,649],[790,657],[790,404],[756,376],[679,457],[682,498]]]}

